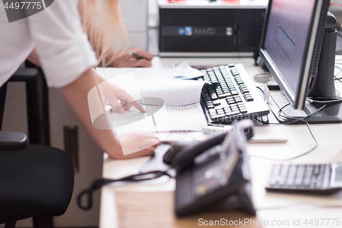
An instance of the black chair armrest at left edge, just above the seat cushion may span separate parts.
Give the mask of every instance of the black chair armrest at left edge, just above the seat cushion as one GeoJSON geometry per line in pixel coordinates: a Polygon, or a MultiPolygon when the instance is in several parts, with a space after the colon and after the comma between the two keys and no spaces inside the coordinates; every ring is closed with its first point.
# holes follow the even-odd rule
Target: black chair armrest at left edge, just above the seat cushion
{"type": "Polygon", "coordinates": [[[14,151],[24,149],[27,137],[23,133],[0,131],[0,151],[14,151]]]}

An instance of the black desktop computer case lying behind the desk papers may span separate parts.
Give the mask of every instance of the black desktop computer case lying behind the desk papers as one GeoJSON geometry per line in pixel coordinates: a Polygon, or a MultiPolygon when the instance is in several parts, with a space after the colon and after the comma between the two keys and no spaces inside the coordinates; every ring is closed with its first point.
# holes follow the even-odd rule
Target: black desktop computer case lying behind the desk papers
{"type": "Polygon", "coordinates": [[[159,0],[160,56],[252,56],[267,1],[159,0]]]}

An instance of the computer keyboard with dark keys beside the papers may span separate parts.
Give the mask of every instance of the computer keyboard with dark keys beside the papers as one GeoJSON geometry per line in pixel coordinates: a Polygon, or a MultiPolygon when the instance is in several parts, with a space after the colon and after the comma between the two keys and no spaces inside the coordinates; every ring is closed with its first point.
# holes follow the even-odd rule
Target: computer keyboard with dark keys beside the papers
{"type": "Polygon", "coordinates": [[[242,64],[201,70],[204,80],[201,105],[209,123],[229,124],[242,118],[269,114],[269,108],[242,64]]]}

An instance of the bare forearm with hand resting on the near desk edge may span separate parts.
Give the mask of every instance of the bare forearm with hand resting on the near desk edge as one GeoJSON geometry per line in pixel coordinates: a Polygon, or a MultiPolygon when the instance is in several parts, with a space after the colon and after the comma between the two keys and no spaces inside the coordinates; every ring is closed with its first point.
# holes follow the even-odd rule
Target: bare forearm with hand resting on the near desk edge
{"type": "MultiPolygon", "coordinates": [[[[123,134],[120,138],[117,138],[112,130],[96,129],[92,125],[88,108],[88,92],[101,82],[99,81],[100,78],[96,71],[90,68],[78,79],[73,81],[73,83],[60,88],[64,99],[66,99],[66,102],[82,123],[83,127],[86,128],[86,131],[88,131],[88,134],[90,134],[96,144],[114,159],[153,154],[155,146],[159,142],[153,134],[132,133],[123,134]],[[125,149],[129,147],[130,151],[138,152],[124,155],[122,147],[125,149]]],[[[125,96],[124,94],[120,95],[125,96]]]]}

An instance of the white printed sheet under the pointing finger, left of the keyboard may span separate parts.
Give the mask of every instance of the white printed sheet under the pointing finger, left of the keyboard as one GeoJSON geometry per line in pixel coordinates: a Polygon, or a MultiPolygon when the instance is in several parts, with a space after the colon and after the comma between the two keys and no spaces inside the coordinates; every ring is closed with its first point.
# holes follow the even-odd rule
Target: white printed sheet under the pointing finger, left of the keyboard
{"type": "Polygon", "coordinates": [[[144,105],[147,113],[141,113],[135,107],[118,114],[110,111],[110,121],[117,133],[135,131],[170,132],[170,131],[202,131],[207,127],[207,120],[200,103],[181,107],[158,107],[144,105]]]}

